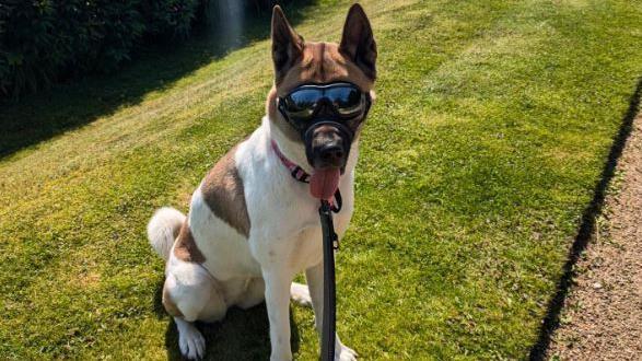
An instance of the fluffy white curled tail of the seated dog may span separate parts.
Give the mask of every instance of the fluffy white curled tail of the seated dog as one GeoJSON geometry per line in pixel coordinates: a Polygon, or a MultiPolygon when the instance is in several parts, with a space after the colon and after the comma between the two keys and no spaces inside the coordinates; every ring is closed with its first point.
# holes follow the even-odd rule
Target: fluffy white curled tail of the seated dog
{"type": "Polygon", "coordinates": [[[163,207],[154,212],[148,224],[148,238],[152,248],[163,259],[170,258],[170,252],[178,231],[185,222],[185,214],[174,208],[163,207]]]}

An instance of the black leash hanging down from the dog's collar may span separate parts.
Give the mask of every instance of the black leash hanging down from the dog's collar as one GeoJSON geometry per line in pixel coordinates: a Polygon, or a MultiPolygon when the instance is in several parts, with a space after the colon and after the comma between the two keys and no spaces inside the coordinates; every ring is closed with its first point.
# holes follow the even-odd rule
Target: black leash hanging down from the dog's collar
{"type": "Polygon", "coordinates": [[[335,194],[337,207],[327,200],[320,201],[318,214],[324,236],[324,306],[322,326],[322,361],[335,361],[335,337],[337,323],[337,294],[335,290],[335,249],[339,249],[339,237],[335,233],[332,212],[341,210],[341,194],[335,194]]]}

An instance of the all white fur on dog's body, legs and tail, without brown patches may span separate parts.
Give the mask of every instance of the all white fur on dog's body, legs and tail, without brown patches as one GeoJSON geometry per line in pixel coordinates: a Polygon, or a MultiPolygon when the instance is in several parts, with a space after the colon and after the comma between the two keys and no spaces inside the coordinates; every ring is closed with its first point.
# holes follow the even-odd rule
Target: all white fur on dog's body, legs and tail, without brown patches
{"type": "MultiPolygon", "coordinates": [[[[184,315],[176,318],[182,352],[188,358],[202,357],[202,336],[189,323],[215,321],[232,305],[250,307],[265,300],[270,322],[271,360],[291,360],[289,300],[312,304],[315,319],[323,319],[323,251],[317,199],[310,186],[290,176],[270,148],[275,139],[281,151],[306,171],[311,171],[303,144],[288,140],[265,117],[261,126],[237,148],[234,160],[243,179],[250,220],[249,237],[211,212],[200,186],[192,195],[188,214],[195,242],[203,254],[202,265],[177,259],[167,261],[167,288],[184,315]],[[307,287],[292,283],[305,271],[307,287]]],[[[357,141],[350,151],[339,188],[343,208],[335,214],[335,229],[342,237],[353,210],[357,141]]],[[[156,212],[148,232],[154,249],[165,255],[164,242],[176,226],[176,214],[167,209],[156,212]],[[159,251],[160,249],[160,251],[159,251]]],[[[320,333],[320,323],[316,323],[320,333]]],[[[336,360],[354,360],[357,353],[337,337],[336,360]]]]}

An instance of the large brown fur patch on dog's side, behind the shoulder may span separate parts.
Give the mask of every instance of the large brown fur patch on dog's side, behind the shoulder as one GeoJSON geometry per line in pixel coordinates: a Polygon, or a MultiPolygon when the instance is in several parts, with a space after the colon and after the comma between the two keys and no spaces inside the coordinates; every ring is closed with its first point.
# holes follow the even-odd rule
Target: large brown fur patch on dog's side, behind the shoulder
{"type": "Polygon", "coordinates": [[[210,210],[245,237],[249,236],[249,216],[243,179],[234,163],[233,148],[207,175],[201,191],[210,210]]]}

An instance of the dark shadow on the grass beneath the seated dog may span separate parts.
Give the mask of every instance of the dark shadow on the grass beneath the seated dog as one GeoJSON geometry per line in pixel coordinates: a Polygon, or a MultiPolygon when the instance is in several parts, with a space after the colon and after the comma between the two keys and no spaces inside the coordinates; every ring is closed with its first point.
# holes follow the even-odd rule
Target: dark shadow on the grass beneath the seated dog
{"type": "MultiPolygon", "coordinates": [[[[178,331],[174,318],[167,315],[162,303],[164,279],[156,287],[154,312],[159,318],[168,319],[165,330],[167,359],[183,360],[178,348],[178,331]]],[[[299,328],[290,314],[291,348],[299,351],[299,328]]],[[[265,303],[249,310],[232,307],[225,318],[213,324],[197,323],[206,338],[203,360],[267,360],[270,358],[268,313],[265,303]]]]}

